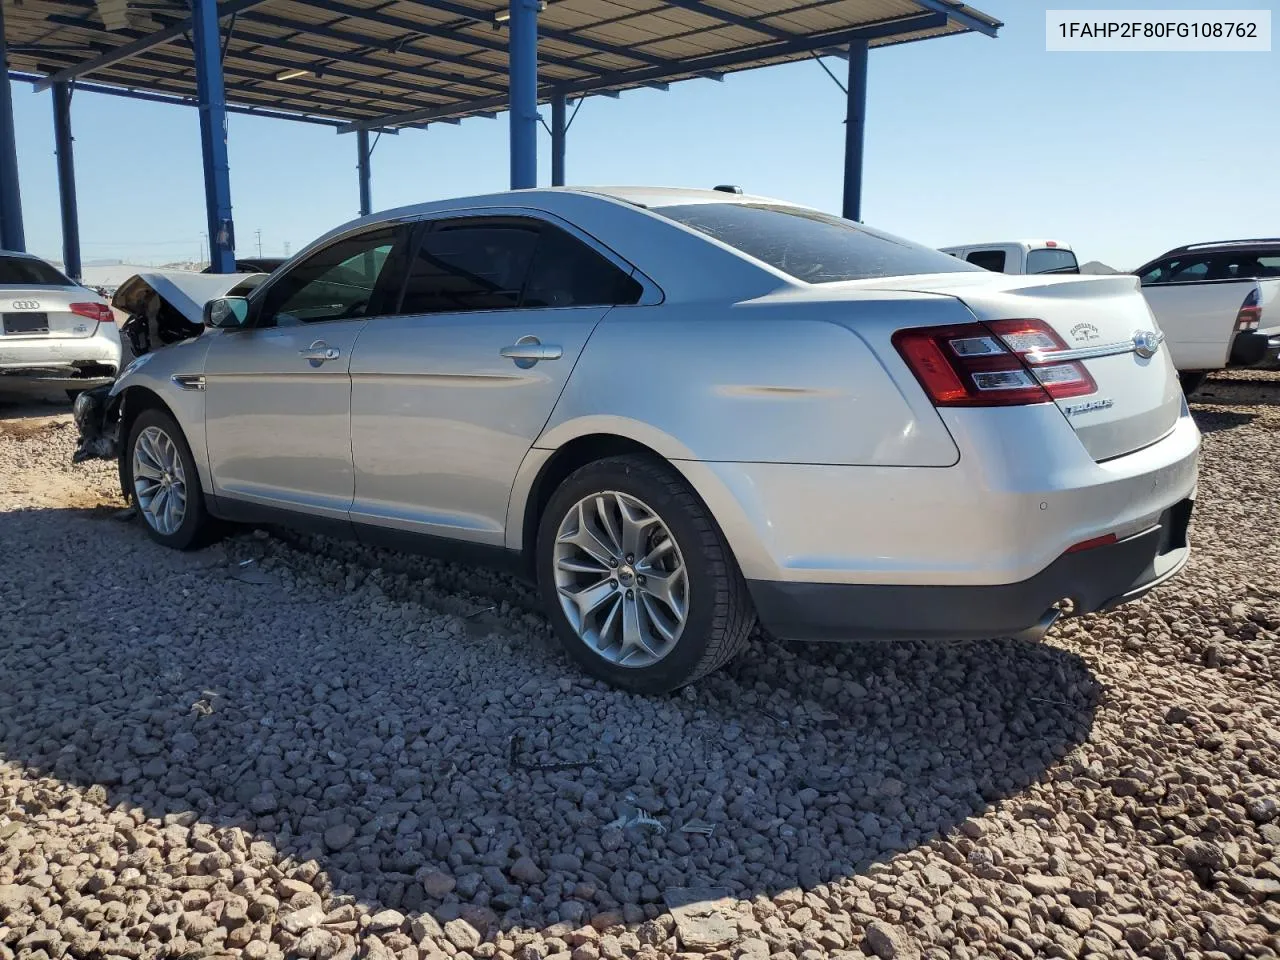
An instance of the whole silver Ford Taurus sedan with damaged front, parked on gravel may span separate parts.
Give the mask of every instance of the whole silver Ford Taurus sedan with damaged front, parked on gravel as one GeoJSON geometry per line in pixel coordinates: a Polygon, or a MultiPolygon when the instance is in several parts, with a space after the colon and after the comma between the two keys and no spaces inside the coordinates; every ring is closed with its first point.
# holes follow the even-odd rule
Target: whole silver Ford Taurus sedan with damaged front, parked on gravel
{"type": "Polygon", "coordinates": [[[520,191],[321,237],[92,429],[161,544],[223,518],[500,562],[588,671],[666,691],[758,618],[1039,636],[1174,576],[1199,433],[1149,320],[1133,276],[781,201],[520,191]]]}

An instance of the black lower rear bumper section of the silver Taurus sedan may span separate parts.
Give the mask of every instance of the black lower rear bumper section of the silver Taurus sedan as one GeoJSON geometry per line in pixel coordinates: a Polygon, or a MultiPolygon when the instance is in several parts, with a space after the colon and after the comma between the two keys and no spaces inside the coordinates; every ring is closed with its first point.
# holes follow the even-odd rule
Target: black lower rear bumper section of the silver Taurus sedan
{"type": "Polygon", "coordinates": [[[1111,609],[1175,576],[1190,556],[1187,498],[1148,530],[1065,553],[1016,584],[897,585],[748,581],[760,622],[787,640],[991,639],[1037,635],[1061,600],[1111,609]]]}

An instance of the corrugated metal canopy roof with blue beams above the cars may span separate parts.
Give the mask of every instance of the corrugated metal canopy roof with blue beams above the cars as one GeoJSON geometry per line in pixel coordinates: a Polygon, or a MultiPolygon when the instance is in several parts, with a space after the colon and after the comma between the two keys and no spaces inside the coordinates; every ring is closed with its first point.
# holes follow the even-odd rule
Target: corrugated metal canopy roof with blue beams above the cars
{"type": "MultiPolygon", "coordinates": [[[[14,77],[195,101],[180,0],[0,3],[14,77]]],[[[494,0],[223,0],[218,10],[234,110],[344,132],[456,122],[508,104],[508,8],[494,0]]],[[[1000,26],[957,0],[550,0],[538,17],[539,99],[1000,26]]]]}

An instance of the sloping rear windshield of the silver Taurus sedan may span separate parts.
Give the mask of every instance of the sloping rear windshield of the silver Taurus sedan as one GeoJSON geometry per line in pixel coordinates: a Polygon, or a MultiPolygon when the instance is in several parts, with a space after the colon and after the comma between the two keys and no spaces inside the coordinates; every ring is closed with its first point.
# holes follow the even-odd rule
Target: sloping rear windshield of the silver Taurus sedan
{"type": "Polygon", "coordinates": [[[654,212],[805,283],[966,273],[948,253],[815,210],[774,204],[681,204],[654,212]]]}

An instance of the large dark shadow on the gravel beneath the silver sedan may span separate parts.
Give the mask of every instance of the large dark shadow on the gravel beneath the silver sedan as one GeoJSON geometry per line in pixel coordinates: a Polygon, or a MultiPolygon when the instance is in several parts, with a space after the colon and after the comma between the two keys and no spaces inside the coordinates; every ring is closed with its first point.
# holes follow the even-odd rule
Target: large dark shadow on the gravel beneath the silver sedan
{"type": "Polygon", "coordinates": [[[3,522],[6,759],[174,828],[241,826],[314,860],[323,892],[481,933],[635,924],[672,887],[751,897],[863,873],[1018,803],[1100,698],[1047,645],[759,639],[696,687],[640,698],[579,676],[498,576],[383,577],[271,540],[243,582],[236,552],[262,540],[174,554],[68,511],[3,522]],[[488,631],[439,613],[486,600],[488,631]]]}

